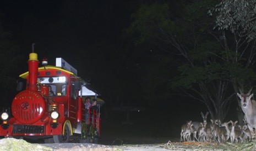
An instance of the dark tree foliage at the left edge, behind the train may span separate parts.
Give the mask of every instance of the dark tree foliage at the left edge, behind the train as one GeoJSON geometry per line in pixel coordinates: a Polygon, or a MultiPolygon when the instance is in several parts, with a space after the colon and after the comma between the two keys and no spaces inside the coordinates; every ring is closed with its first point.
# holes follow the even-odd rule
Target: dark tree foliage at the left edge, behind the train
{"type": "Polygon", "coordinates": [[[9,107],[16,92],[18,73],[21,62],[26,62],[20,53],[20,48],[13,35],[0,26],[0,90],[2,107],[9,107]]]}

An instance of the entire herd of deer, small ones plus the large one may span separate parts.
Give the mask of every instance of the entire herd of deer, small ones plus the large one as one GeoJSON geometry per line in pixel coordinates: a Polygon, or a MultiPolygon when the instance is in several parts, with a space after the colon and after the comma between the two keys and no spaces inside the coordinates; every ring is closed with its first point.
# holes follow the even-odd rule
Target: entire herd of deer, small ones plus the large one
{"type": "Polygon", "coordinates": [[[256,101],[250,100],[253,96],[248,94],[237,94],[241,98],[241,108],[244,112],[244,125],[238,125],[237,121],[228,121],[221,123],[220,120],[211,119],[207,123],[207,112],[205,115],[201,112],[202,122],[188,121],[181,127],[181,142],[193,141],[199,142],[227,142],[243,143],[255,138],[256,128],[256,101]]]}

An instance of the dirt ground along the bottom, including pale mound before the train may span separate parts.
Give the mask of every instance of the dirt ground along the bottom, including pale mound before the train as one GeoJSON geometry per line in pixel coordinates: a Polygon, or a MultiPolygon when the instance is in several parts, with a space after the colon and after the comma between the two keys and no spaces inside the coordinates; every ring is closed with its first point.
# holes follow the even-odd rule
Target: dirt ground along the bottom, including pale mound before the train
{"type": "Polygon", "coordinates": [[[102,120],[102,137],[99,144],[88,143],[62,143],[62,144],[27,144],[18,140],[0,141],[0,150],[108,150],[108,151],[132,151],[132,150],[256,150],[256,142],[246,144],[231,143],[200,143],[200,142],[179,142],[179,125],[172,123],[151,123],[148,119],[133,120],[133,124],[123,124],[113,120],[102,120]],[[2,142],[3,141],[3,142],[2,142]],[[13,144],[14,143],[14,144],[13,144]],[[18,144],[19,143],[19,144],[18,144]],[[6,146],[10,144],[9,146],[6,146]],[[27,144],[25,146],[24,144],[27,144]],[[45,148],[47,147],[47,148],[45,148]],[[50,149],[49,149],[50,148],[50,149]]]}

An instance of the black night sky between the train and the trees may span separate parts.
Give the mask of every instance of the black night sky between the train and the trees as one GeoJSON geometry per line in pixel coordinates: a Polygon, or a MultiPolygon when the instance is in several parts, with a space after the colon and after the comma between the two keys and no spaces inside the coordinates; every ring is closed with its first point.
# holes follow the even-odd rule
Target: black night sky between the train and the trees
{"type": "MultiPolygon", "coordinates": [[[[26,60],[35,43],[39,60],[46,57],[49,65],[55,65],[55,58],[62,57],[100,92],[106,102],[102,126],[110,123],[127,126],[121,125],[126,113],[113,111],[113,107],[139,107],[145,110],[132,112],[130,120],[134,124],[129,126],[141,131],[141,136],[154,137],[154,131],[159,131],[157,137],[179,137],[181,125],[188,120],[201,120],[200,112],[207,109],[203,103],[165,90],[165,82],[153,89],[155,85],[144,80],[149,62],[157,65],[161,59],[152,51],[154,47],[134,45],[124,29],[129,27],[132,13],[145,2],[1,0],[0,25],[12,33],[20,47],[19,54],[24,57],[20,72],[14,77],[27,71],[26,60]],[[155,94],[152,100],[143,97],[145,90],[155,94]]],[[[174,63],[163,68],[171,71],[163,73],[163,77],[177,73],[174,63]]],[[[104,131],[115,130],[103,127],[102,135],[107,133],[104,131]]]]}

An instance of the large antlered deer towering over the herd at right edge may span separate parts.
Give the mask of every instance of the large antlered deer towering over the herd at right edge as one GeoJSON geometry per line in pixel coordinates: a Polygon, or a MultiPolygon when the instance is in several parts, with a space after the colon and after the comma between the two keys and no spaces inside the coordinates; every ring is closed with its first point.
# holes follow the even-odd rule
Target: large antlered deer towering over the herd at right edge
{"type": "MultiPolygon", "coordinates": [[[[250,91],[252,91],[252,89],[250,89],[250,91]]],[[[250,95],[250,91],[248,94],[237,93],[237,96],[241,99],[241,108],[244,113],[244,119],[247,121],[250,134],[255,138],[253,129],[256,129],[256,101],[250,100],[253,96],[253,94],[250,95]]]]}

